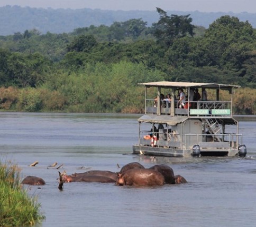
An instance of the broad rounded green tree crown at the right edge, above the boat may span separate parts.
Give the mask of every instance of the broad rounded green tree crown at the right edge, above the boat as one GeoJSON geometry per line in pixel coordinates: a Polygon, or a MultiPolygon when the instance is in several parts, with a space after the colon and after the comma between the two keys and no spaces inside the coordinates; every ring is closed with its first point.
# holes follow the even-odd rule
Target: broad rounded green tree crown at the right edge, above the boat
{"type": "Polygon", "coordinates": [[[240,70],[254,40],[253,28],[248,22],[222,16],[209,26],[204,36],[207,62],[227,70],[240,70]]]}

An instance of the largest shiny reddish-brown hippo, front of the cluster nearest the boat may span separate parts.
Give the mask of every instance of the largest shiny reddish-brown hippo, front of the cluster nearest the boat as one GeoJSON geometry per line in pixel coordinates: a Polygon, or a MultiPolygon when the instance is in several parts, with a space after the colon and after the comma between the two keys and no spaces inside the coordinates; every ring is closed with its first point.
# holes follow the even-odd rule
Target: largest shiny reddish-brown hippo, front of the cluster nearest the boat
{"type": "Polygon", "coordinates": [[[118,174],[116,185],[155,186],[163,185],[164,176],[156,170],[131,169],[118,174]]]}

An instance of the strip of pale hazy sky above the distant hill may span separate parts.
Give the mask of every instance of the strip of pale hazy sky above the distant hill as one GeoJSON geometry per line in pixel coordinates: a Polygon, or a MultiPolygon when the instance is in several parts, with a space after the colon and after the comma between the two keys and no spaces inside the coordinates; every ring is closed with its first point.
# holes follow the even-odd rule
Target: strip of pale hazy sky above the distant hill
{"type": "Polygon", "coordinates": [[[255,0],[0,0],[0,7],[19,5],[42,8],[99,8],[155,11],[256,13],[255,0]]]}

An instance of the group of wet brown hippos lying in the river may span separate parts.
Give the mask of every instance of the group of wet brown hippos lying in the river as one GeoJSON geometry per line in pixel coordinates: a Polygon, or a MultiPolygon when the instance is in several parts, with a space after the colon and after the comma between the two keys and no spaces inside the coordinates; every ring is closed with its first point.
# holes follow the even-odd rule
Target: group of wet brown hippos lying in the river
{"type": "MultiPolygon", "coordinates": [[[[99,182],[115,183],[115,185],[157,186],[164,184],[180,184],[186,183],[187,181],[181,175],[174,175],[172,168],[168,165],[154,165],[146,169],[138,162],[131,162],[124,165],[120,172],[91,170],[71,175],[67,175],[65,171],[64,173],[59,172],[58,188],[62,190],[63,184],[68,182],[99,182]]],[[[43,179],[36,176],[26,176],[21,183],[30,185],[45,184],[43,179]]]]}

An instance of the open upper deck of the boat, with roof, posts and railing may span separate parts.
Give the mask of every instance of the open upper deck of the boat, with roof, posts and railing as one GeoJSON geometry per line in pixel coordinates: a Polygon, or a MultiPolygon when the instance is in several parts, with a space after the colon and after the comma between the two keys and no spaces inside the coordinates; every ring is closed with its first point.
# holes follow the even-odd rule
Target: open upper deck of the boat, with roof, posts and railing
{"type": "Polygon", "coordinates": [[[145,114],[170,115],[170,116],[188,116],[188,117],[232,117],[232,101],[234,88],[237,85],[214,84],[214,83],[185,83],[185,82],[150,82],[141,83],[145,86],[145,114]],[[156,97],[150,97],[148,88],[156,87],[156,97]],[[179,106],[177,90],[182,88],[186,94],[186,105],[182,108],[179,106]],[[191,90],[198,89],[201,92],[203,88],[206,91],[214,90],[215,98],[212,100],[198,101],[191,100],[191,90]],[[171,101],[162,98],[162,91],[169,91],[171,101]],[[227,91],[230,100],[220,100],[220,90],[227,91]]]}

